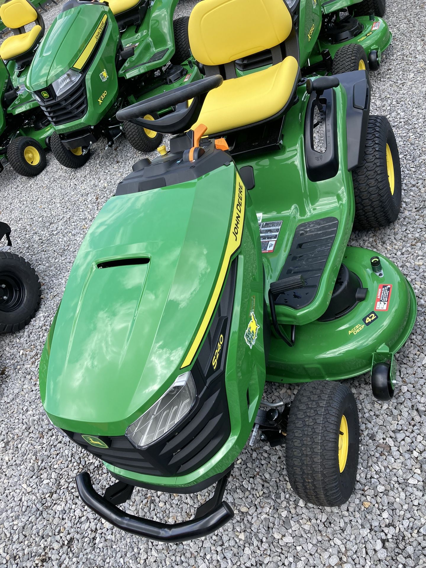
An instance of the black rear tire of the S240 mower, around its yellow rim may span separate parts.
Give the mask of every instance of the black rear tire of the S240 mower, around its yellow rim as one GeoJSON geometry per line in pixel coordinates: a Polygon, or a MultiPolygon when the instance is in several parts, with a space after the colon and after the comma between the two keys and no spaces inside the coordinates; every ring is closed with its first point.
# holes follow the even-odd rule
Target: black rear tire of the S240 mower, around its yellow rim
{"type": "Polygon", "coordinates": [[[386,227],[398,218],[401,208],[401,165],[394,131],[385,116],[371,115],[362,163],[352,172],[355,195],[354,229],[386,227]],[[387,147],[392,157],[394,190],[387,170],[387,147]]]}

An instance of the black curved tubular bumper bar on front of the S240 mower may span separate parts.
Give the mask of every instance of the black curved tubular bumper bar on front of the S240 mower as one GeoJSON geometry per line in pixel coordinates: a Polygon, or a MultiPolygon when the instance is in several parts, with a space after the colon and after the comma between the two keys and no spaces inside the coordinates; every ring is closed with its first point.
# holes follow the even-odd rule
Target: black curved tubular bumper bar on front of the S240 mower
{"type": "Polygon", "coordinates": [[[234,513],[228,503],[225,501],[218,503],[219,496],[220,500],[222,500],[227,479],[228,475],[225,475],[216,485],[215,495],[210,499],[213,502],[212,507],[206,507],[210,501],[199,507],[197,512],[200,513],[200,509],[204,507],[202,509],[202,512],[206,511],[204,515],[196,514],[195,518],[190,521],[173,525],[142,519],[122,511],[105,496],[102,497],[94,490],[87,471],[78,474],[76,482],[78,494],[83,503],[115,527],[137,536],[149,538],[150,540],[183,542],[211,534],[232,519],[234,513]]]}

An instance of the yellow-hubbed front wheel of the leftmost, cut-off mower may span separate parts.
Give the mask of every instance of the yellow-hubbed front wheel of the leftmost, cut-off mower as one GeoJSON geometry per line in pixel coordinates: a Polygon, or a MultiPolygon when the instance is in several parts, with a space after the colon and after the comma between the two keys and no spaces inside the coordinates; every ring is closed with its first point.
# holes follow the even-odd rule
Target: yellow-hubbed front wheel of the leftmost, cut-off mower
{"type": "Polygon", "coordinates": [[[34,177],[46,167],[46,153],[37,140],[19,136],[7,147],[7,160],[20,176],[34,177]]]}

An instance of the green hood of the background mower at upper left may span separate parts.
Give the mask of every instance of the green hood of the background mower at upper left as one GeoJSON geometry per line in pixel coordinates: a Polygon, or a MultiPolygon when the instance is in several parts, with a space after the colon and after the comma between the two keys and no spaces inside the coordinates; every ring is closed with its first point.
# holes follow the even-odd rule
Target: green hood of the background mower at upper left
{"type": "Polygon", "coordinates": [[[61,12],[36,51],[28,71],[27,88],[45,89],[72,68],[106,12],[114,17],[107,6],[99,4],[82,4],[61,12]]]}

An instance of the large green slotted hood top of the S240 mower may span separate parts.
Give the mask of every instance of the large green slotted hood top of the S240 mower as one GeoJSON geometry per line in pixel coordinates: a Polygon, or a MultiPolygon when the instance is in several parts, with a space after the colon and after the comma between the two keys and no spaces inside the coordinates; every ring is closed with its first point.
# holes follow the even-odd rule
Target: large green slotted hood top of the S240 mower
{"type": "Polygon", "coordinates": [[[227,244],[234,188],[229,165],[105,204],[69,275],[47,369],[40,364],[41,399],[56,425],[123,435],[185,372],[227,244]],[[150,261],[98,268],[129,257],[150,261]]]}

